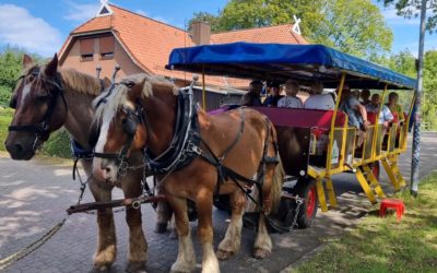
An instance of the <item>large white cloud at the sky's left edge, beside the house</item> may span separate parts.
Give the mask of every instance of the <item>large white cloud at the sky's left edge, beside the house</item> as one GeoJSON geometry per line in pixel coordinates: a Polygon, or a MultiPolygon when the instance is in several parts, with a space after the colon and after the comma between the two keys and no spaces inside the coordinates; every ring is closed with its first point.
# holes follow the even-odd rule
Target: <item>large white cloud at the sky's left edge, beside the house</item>
{"type": "Polygon", "coordinates": [[[0,4],[0,44],[10,44],[43,56],[59,50],[62,38],[59,31],[26,9],[0,4]]]}

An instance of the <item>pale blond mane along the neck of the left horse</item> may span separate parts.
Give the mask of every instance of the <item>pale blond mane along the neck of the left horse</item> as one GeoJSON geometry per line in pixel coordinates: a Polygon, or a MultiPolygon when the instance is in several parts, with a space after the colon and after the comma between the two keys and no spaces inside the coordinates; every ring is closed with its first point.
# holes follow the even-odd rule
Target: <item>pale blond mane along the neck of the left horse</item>
{"type": "Polygon", "coordinates": [[[96,78],[81,73],[75,69],[60,69],[59,73],[64,85],[72,91],[92,96],[98,96],[102,92],[101,82],[96,78]]]}

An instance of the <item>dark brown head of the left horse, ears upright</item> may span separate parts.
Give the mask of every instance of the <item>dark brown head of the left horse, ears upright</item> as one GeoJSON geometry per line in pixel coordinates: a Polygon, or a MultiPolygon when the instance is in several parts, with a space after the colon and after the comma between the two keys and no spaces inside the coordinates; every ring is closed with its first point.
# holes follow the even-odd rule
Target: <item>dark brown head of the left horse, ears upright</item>
{"type": "Polygon", "coordinates": [[[4,144],[13,159],[27,161],[64,123],[68,109],[57,55],[46,66],[24,55],[23,71],[10,102],[15,112],[4,144]]]}

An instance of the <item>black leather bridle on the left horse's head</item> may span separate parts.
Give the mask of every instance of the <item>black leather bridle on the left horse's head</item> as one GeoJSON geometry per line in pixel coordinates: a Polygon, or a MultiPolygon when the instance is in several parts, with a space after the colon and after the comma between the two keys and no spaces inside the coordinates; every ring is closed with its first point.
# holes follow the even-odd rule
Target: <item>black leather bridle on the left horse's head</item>
{"type": "MultiPolygon", "coordinates": [[[[34,76],[38,76],[39,72],[40,72],[40,69],[35,68],[34,70],[32,70],[31,74],[34,76]]],[[[19,78],[17,81],[23,80],[24,78],[25,78],[25,75],[22,75],[19,78]]],[[[62,98],[63,106],[66,108],[66,111],[68,112],[68,105],[67,105],[67,100],[66,100],[66,97],[63,94],[63,88],[62,88],[62,83],[60,80],[59,72],[57,72],[55,80],[44,79],[43,81],[46,84],[49,84],[54,87],[52,93],[51,93],[52,99],[50,100],[48,108],[43,116],[43,119],[36,124],[10,126],[8,128],[9,131],[35,132],[35,140],[34,140],[34,143],[32,146],[33,151],[36,151],[37,149],[39,149],[39,146],[42,144],[42,141],[40,141],[42,136],[47,136],[49,133],[51,118],[54,116],[55,108],[56,108],[59,96],[62,98]]],[[[11,106],[11,108],[14,108],[14,109],[16,107],[15,104],[11,104],[10,106],[11,106]]]]}

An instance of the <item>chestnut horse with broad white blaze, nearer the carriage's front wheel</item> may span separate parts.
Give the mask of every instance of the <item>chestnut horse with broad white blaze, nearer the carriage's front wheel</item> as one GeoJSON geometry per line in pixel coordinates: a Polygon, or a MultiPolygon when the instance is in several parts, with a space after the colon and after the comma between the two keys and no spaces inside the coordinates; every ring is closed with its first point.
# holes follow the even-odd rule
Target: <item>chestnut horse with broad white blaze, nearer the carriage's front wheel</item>
{"type": "MultiPolygon", "coordinates": [[[[94,163],[93,170],[104,171],[105,177],[114,181],[120,168],[119,161],[114,159],[116,157],[128,158],[130,154],[143,147],[147,149],[149,155],[155,155],[150,156],[154,162],[160,159],[165,162],[176,156],[174,163],[179,166],[168,167],[170,165],[167,165],[168,168],[163,167],[165,170],[157,176],[158,187],[165,192],[174,210],[179,237],[179,252],[172,272],[191,272],[196,266],[187,216],[187,200],[193,201],[198,210],[198,234],[203,249],[202,272],[218,272],[217,257],[227,259],[240,247],[241,218],[246,203],[243,189],[248,185],[241,182],[244,180],[241,177],[239,181],[234,181],[226,174],[220,176],[217,167],[208,162],[205,152],[211,152],[211,156],[216,155],[216,159],[223,163],[223,166],[238,170],[238,174],[244,177],[263,176],[261,206],[265,213],[269,213],[272,201],[277,202],[279,198],[279,194],[275,198],[271,194],[273,181],[277,181],[276,187],[273,188],[281,189],[282,180],[273,179],[274,161],[267,164],[261,164],[261,161],[276,156],[275,130],[267,117],[249,108],[210,116],[201,109],[193,110],[192,105],[189,104],[185,107],[186,111],[180,112],[180,108],[186,106],[180,103],[180,96],[181,93],[179,94],[175,85],[166,81],[144,74],[125,79],[108,97],[108,103],[96,110],[96,118],[102,120],[96,153],[101,153],[104,158],[98,162],[101,165],[94,163]],[[190,109],[194,116],[190,115],[190,109]],[[178,120],[177,117],[182,118],[178,120]],[[192,120],[192,126],[198,128],[198,136],[202,141],[198,145],[184,150],[185,154],[178,157],[177,153],[168,151],[179,145],[175,140],[189,135],[189,133],[184,133],[186,122],[189,120],[192,120]],[[175,139],[174,135],[180,138],[175,139]],[[193,158],[189,159],[193,154],[193,158]],[[222,181],[220,181],[221,178],[223,178],[222,181]],[[214,192],[231,194],[232,205],[231,224],[225,238],[218,246],[217,257],[212,245],[214,192]]],[[[223,166],[220,168],[223,170],[222,174],[226,173],[223,166]]],[[[276,190],[277,192],[280,190],[276,190]]],[[[272,241],[264,215],[261,214],[253,254],[256,258],[264,258],[271,253],[271,250],[272,241]]]]}

